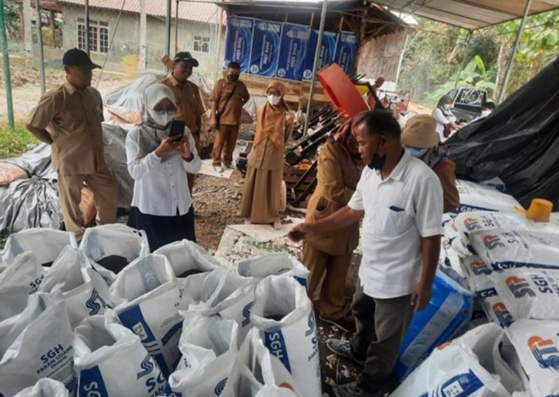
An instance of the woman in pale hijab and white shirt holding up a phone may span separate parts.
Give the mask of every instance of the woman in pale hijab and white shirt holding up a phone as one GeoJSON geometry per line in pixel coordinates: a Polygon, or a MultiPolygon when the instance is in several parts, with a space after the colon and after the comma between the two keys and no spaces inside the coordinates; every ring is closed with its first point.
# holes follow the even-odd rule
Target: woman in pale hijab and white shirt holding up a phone
{"type": "Polygon", "coordinates": [[[184,238],[196,241],[187,173],[198,173],[201,161],[189,131],[178,142],[168,137],[176,110],[169,87],[150,85],[143,124],[126,136],[128,171],[135,181],[128,225],[147,233],[152,251],[184,238]]]}

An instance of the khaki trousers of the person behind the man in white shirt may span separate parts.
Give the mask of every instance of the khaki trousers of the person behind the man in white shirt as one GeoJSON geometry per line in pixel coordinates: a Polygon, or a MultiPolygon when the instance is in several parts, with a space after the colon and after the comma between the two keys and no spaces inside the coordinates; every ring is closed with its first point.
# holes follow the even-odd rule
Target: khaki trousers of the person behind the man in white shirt
{"type": "Polygon", "coordinates": [[[307,291],[311,299],[324,275],[317,303],[320,315],[324,319],[337,320],[346,314],[344,286],[350,263],[351,254],[327,254],[308,243],[303,247],[303,264],[310,270],[307,291]]]}

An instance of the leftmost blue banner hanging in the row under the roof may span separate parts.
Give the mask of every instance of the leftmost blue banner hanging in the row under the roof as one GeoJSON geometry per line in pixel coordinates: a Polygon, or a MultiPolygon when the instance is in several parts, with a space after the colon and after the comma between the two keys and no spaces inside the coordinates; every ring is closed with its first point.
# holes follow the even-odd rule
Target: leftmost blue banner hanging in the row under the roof
{"type": "Polygon", "coordinates": [[[238,62],[240,71],[248,73],[253,28],[252,18],[229,17],[227,19],[224,69],[229,62],[238,62]]]}

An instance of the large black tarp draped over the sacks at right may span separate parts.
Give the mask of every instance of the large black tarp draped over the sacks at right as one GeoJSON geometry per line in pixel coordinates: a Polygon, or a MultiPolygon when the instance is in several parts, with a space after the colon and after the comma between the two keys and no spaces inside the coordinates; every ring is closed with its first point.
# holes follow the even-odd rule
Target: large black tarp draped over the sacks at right
{"type": "Polygon", "coordinates": [[[559,59],[445,143],[459,178],[498,176],[526,208],[546,198],[559,210],[559,59]]]}

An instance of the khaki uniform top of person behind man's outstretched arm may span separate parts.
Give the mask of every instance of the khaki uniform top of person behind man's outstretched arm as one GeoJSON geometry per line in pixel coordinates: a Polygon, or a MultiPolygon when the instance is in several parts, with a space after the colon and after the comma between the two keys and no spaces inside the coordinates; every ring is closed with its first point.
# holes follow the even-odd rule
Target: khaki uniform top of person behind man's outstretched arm
{"type": "MultiPolygon", "coordinates": [[[[317,188],[307,205],[306,222],[316,222],[343,208],[354,194],[354,189],[344,185],[339,154],[331,143],[325,143],[319,154],[317,188]]],[[[359,222],[329,233],[314,233],[305,242],[331,255],[353,252],[359,243],[359,222]]]]}

